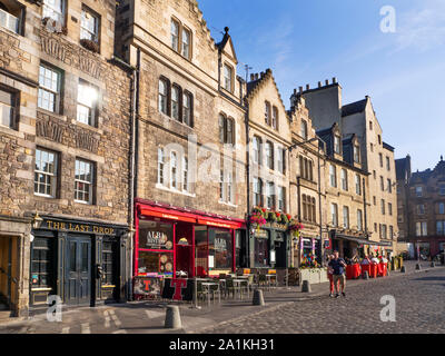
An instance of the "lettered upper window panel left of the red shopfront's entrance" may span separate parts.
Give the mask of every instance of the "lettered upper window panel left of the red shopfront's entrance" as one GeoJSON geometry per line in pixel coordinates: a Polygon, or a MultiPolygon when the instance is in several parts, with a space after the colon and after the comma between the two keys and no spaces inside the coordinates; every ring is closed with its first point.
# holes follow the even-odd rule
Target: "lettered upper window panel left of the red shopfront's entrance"
{"type": "Polygon", "coordinates": [[[171,224],[157,221],[140,221],[139,248],[172,249],[174,227],[171,224]]]}

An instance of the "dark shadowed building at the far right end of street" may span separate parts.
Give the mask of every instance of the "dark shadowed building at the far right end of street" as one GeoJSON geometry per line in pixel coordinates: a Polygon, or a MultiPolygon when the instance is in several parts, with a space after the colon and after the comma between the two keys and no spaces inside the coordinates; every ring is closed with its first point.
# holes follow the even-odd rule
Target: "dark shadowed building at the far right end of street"
{"type": "Polygon", "coordinates": [[[397,162],[399,228],[412,257],[434,257],[445,247],[445,161],[411,172],[411,158],[397,162]],[[403,199],[405,197],[405,199],[403,199]]]}

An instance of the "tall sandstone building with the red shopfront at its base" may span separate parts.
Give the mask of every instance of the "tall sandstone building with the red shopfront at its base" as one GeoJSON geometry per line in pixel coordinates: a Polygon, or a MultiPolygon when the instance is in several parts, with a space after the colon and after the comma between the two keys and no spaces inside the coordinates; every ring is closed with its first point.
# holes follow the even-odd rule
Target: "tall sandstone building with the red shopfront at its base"
{"type": "Polygon", "coordinates": [[[247,201],[246,85],[229,29],[215,42],[195,0],[117,11],[117,51],[139,72],[134,275],[230,271],[247,201]]]}

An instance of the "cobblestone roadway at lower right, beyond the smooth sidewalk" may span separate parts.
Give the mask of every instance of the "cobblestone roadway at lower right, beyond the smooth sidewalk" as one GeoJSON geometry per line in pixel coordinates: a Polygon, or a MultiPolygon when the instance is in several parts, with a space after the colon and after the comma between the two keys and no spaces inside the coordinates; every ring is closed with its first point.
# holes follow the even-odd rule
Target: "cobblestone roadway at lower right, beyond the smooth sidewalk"
{"type": "MultiPolygon", "coordinates": [[[[350,285],[350,284],[349,284],[350,285]]],[[[346,287],[346,298],[315,297],[226,323],[205,333],[445,333],[445,269],[346,287]],[[396,300],[396,322],[380,322],[380,298],[396,300]]]]}

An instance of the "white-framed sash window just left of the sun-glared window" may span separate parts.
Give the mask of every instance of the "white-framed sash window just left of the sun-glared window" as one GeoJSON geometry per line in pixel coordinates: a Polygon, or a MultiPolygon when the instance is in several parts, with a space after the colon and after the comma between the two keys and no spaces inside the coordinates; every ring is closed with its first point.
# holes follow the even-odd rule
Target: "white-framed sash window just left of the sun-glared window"
{"type": "Polygon", "coordinates": [[[59,111],[60,100],[60,71],[48,66],[40,65],[39,68],[39,108],[55,112],[59,111]]]}

